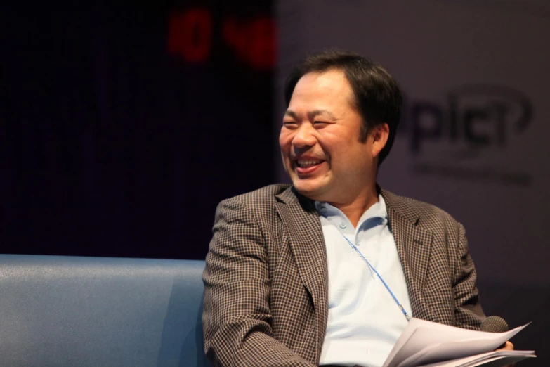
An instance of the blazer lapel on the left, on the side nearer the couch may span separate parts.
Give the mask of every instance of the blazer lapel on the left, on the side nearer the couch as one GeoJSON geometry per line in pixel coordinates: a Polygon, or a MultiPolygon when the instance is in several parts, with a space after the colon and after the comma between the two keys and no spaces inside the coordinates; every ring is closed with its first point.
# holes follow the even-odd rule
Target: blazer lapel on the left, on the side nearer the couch
{"type": "Polygon", "coordinates": [[[277,195],[275,207],[282,224],[287,228],[301,280],[313,300],[318,358],[328,318],[327,250],[321,224],[313,202],[297,194],[292,186],[277,195]]]}

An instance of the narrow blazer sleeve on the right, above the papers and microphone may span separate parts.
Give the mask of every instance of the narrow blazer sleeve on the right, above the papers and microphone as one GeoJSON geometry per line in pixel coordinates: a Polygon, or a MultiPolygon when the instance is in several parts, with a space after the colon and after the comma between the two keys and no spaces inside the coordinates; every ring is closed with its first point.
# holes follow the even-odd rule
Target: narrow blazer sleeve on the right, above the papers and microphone
{"type": "Polygon", "coordinates": [[[454,269],[454,319],[456,326],[479,330],[485,319],[476,286],[476,268],[468,250],[464,226],[459,224],[457,263],[454,269]]]}

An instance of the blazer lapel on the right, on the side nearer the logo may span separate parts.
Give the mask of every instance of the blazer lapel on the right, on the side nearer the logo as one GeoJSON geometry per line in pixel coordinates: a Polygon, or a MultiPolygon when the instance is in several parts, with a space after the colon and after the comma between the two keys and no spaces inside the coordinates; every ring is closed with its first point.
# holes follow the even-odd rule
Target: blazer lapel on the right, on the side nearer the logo
{"type": "Polygon", "coordinates": [[[422,296],[433,234],[421,226],[419,214],[407,200],[384,190],[381,195],[386,201],[388,221],[407,281],[412,316],[436,321],[422,296]]]}

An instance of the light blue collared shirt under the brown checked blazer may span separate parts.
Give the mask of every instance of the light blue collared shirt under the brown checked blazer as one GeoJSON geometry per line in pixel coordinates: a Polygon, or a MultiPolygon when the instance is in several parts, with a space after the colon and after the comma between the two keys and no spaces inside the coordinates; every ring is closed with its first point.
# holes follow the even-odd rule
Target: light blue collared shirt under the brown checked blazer
{"type": "Polygon", "coordinates": [[[329,316],[320,364],[380,367],[407,326],[398,304],[344,236],[377,269],[412,316],[407,283],[388,226],[386,202],[369,207],[357,228],[341,210],[315,202],[327,247],[329,316]]]}

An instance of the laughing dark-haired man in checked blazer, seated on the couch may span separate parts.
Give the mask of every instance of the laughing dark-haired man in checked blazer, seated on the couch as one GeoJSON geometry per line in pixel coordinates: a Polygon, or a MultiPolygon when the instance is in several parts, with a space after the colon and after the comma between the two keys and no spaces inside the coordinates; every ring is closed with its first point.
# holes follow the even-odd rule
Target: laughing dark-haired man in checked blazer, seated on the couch
{"type": "Polygon", "coordinates": [[[280,132],[292,186],[218,206],[204,270],[216,366],[381,366],[411,316],[479,328],[464,228],[377,186],[400,119],[397,83],[354,53],[287,79],[280,132]]]}

